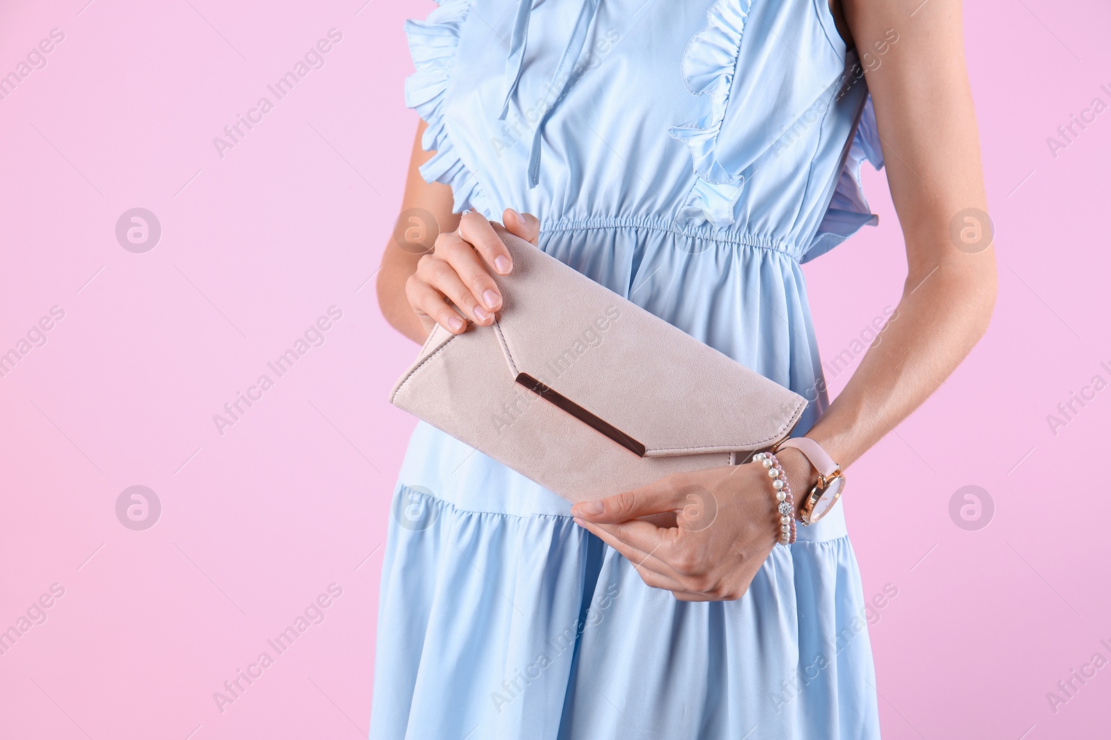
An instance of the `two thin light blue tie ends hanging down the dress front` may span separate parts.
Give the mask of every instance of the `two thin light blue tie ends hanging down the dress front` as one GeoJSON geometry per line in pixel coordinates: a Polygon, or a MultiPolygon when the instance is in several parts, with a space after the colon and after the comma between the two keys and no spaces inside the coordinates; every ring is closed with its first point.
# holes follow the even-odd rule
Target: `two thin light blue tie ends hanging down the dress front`
{"type": "MultiPolygon", "coordinates": [[[[548,123],[548,119],[551,118],[556,107],[574,84],[574,79],[570,74],[571,70],[569,68],[573,68],[582,54],[582,48],[587,43],[587,31],[590,30],[590,24],[593,22],[594,16],[598,14],[599,2],[600,0],[583,0],[582,8],[579,10],[579,17],[574,22],[574,29],[571,31],[571,38],[568,40],[567,48],[563,49],[563,54],[560,57],[559,63],[556,65],[556,71],[552,74],[548,93],[551,93],[556,85],[560,84],[560,80],[562,80],[562,84],[559,88],[559,95],[546,108],[533,130],[532,145],[529,150],[530,189],[536,187],[540,182],[540,140],[543,135],[544,124],[548,123]]],[[[524,51],[529,41],[529,19],[531,14],[532,0],[519,0],[517,14],[513,18],[513,36],[510,39],[509,57],[506,59],[506,100],[501,107],[501,114],[498,116],[499,121],[506,120],[506,115],[509,113],[510,101],[517,95],[517,88],[521,81],[521,71],[524,69],[524,51]]]]}

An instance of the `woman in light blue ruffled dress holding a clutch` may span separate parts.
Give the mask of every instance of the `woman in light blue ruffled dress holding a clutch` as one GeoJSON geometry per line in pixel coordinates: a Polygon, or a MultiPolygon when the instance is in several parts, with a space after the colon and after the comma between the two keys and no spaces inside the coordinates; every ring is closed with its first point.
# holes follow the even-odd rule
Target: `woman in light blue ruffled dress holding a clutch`
{"type": "MultiPolygon", "coordinates": [[[[490,275],[512,270],[500,220],[807,396],[793,434],[851,465],[983,334],[994,257],[960,3],[824,2],[443,0],[410,22],[423,121],[402,209],[442,233],[430,253],[387,249],[386,317],[414,342],[436,323],[467,331],[452,304],[490,325],[490,275]],[[799,265],[874,223],[864,160],[887,163],[908,275],[831,405],[799,265]]],[[[803,517],[821,465],[792,447],[778,459],[803,517]]],[[[571,509],[420,424],[390,523],[370,734],[875,738],[843,506],[778,545],[758,460],[571,509]],[[711,493],[712,526],[691,485],[711,493]],[[660,513],[677,526],[639,519],[660,513]]]]}

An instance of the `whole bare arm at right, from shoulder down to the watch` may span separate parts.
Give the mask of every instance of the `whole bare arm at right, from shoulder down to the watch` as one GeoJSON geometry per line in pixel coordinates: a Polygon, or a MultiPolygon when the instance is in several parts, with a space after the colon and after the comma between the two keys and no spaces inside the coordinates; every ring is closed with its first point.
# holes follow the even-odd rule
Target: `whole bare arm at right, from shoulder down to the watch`
{"type": "Polygon", "coordinates": [[[971,223],[988,219],[988,203],[960,0],[930,3],[913,28],[898,0],[842,4],[858,48],[890,52],[865,77],[908,264],[897,312],[807,433],[845,467],[937,391],[983,335],[995,262],[990,241],[951,236],[962,214],[992,236],[990,221],[971,223]],[[898,44],[881,43],[891,30],[898,44]]]}

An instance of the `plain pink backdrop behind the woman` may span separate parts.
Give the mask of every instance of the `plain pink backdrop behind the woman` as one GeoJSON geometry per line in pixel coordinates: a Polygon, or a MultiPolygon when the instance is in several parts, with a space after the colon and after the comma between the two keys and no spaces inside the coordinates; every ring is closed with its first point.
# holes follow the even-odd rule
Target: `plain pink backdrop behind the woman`
{"type": "MultiPolygon", "coordinates": [[[[386,395],[417,349],[368,280],[416,125],[402,20],[432,6],[364,1],[4,3],[0,74],[51,29],[64,40],[0,100],[0,352],[52,306],[64,317],[0,377],[0,629],[52,584],[64,596],[0,656],[2,738],[366,734],[413,426],[386,395]],[[324,67],[221,159],[212,138],[331,28],[324,67]],[[114,236],[137,206],[162,227],[144,254],[114,236]],[[323,344],[219,434],[213,415],[330,306],[342,317],[323,344]],[[116,515],[133,485],[162,505],[144,531],[116,515]],[[342,596],[324,620],[221,712],[213,692],[330,584],[342,596]]],[[[1047,692],[1111,658],[1111,389],[1055,434],[1047,415],[1111,381],[1111,111],[1055,158],[1045,139],[1111,102],[1111,8],[965,12],[1000,297],[968,362],[851,472],[864,592],[898,588],[871,628],[882,723],[888,738],[1105,737],[1111,667],[1057,712],[1047,692]],[[965,485],[995,506],[977,531],[949,514],[965,485]]],[[[827,358],[901,291],[885,182],[867,184],[881,225],[807,266],[827,358]]]]}

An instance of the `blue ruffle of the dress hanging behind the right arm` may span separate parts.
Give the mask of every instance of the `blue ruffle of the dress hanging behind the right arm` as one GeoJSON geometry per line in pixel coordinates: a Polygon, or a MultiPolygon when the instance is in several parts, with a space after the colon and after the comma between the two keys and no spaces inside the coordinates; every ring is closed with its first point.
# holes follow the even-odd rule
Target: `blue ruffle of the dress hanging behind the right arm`
{"type": "Polygon", "coordinates": [[[872,98],[868,97],[860,114],[857,133],[845,156],[841,176],[838,180],[829,209],[818,226],[818,233],[807,249],[802,262],[809,262],[822,255],[852,236],[861,226],[874,226],[880,217],[871,212],[864,189],[860,182],[860,169],[864,162],[873,168],[883,168],[883,151],[880,148],[880,136],[875,130],[875,111],[872,109],[872,98]]]}

